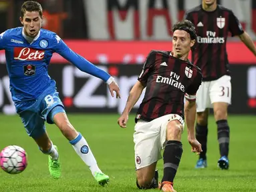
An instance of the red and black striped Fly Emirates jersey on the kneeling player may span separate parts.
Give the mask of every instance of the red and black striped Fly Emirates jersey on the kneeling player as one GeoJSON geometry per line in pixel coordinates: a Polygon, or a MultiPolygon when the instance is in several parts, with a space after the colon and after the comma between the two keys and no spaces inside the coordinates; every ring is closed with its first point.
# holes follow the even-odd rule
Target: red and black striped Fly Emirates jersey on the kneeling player
{"type": "Polygon", "coordinates": [[[202,81],[199,67],[172,57],[170,51],[151,51],[138,77],[146,86],[136,121],[152,121],[168,114],[184,118],[184,95],[195,95],[202,81]]]}

